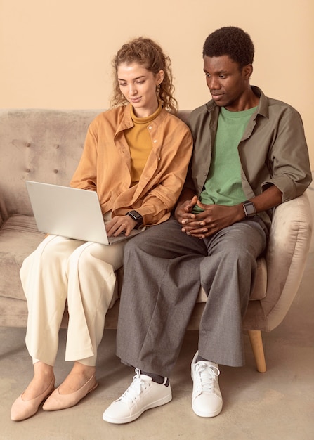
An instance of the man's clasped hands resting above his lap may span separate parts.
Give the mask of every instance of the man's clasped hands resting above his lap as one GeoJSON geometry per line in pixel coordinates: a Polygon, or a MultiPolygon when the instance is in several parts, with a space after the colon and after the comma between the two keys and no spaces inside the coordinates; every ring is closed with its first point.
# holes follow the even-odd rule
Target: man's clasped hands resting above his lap
{"type": "Polygon", "coordinates": [[[181,231],[197,238],[205,238],[234,224],[237,217],[236,206],[204,205],[195,195],[191,200],[182,202],[176,208],[176,220],[183,225],[181,231]],[[199,214],[192,213],[197,205],[204,209],[199,214]]]}

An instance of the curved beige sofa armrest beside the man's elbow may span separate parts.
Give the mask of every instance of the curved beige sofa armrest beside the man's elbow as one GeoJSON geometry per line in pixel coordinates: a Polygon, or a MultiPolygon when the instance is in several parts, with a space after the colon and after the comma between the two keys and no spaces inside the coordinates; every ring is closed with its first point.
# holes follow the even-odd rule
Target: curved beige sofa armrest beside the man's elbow
{"type": "Polygon", "coordinates": [[[292,304],[306,266],[311,235],[306,193],[275,209],[266,252],[266,297],[261,300],[268,331],[281,323],[292,304]]]}

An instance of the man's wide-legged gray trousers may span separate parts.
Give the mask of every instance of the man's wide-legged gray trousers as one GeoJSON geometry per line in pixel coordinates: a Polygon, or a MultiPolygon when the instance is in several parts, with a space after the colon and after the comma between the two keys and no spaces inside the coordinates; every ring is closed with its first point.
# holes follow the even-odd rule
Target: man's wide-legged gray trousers
{"type": "Polygon", "coordinates": [[[117,356],[168,377],[202,285],[208,299],[199,327],[199,354],[244,365],[242,318],[266,247],[258,221],[240,221],[200,240],[175,219],[153,226],[124,248],[117,356]]]}

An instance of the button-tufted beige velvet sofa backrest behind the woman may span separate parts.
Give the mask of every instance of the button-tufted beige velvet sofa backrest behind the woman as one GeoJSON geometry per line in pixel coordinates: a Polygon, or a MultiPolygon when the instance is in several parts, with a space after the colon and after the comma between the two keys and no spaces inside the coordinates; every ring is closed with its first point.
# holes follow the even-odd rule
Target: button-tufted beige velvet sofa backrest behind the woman
{"type": "MultiPolygon", "coordinates": [[[[25,180],[69,186],[90,122],[103,110],[0,110],[0,221],[32,215],[25,180]]],[[[189,111],[179,117],[186,121],[189,111]]]]}

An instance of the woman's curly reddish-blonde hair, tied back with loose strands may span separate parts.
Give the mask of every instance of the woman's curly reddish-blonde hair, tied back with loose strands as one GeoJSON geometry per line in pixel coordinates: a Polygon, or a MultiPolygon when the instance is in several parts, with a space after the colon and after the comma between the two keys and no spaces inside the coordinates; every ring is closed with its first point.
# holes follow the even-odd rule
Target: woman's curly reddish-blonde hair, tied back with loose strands
{"type": "Polygon", "coordinates": [[[178,103],[174,98],[174,85],[172,84],[171,60],[169,56],[164,55],[162,48],[155,41],[143,37],[124,44],[112,61],[112,67],[115,70],[114,87],[110,100],[112,107],[128,103],[120,90],[117,78],[117,68],[123,63],[138,63],[154,75],[157,75],[159,70],[163,70],[164,80],[158,89],[158,98],[166,110],[174,114],[178,112],[178,103]]]}

